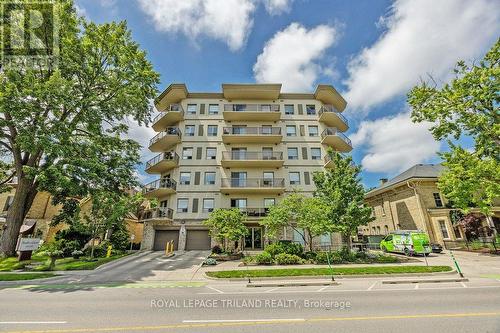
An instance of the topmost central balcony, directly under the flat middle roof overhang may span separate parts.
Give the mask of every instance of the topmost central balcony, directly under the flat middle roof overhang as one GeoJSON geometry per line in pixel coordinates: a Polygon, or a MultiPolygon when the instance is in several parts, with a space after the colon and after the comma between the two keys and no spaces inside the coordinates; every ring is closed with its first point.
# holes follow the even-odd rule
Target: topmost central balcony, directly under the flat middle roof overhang
{"type": "Polygon", "coordinates": [[[278,121],[281,118],[278,104],[225,104],[223,115],[227,121],[278,121]]]}

